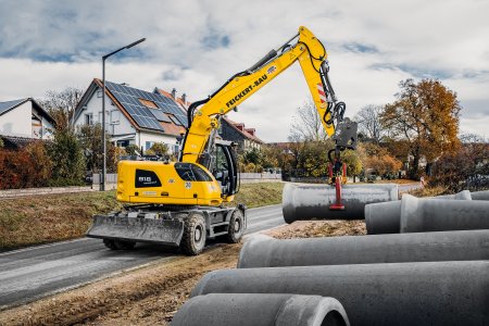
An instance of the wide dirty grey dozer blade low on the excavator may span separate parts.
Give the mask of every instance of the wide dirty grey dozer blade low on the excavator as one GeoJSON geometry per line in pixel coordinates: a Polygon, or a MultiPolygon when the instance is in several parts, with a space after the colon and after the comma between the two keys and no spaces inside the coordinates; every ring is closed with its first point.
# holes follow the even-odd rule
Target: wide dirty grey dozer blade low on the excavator
{"type": "Polygon", "coordinates": [[[96,215],[87,237],[150,242],[178,247],[184,235],[179,220],[152,220],[96,215]]]}

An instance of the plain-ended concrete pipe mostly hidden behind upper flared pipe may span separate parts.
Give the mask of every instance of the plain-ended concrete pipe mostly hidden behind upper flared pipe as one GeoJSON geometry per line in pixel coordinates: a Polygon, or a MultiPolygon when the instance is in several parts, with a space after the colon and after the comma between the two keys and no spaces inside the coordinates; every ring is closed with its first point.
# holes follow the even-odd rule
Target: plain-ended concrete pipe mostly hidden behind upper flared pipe
{"type": "MultiPolygon", "coordinates": [[[[429,199],[472,200],[471,191],[428,197],[429,199]]],[[[428,198],[423,198],[428,199],[428,198]]],[[[368,235],[399,234],[401,231],[401,201],[365,205],[365,225],[368,235]]]]}

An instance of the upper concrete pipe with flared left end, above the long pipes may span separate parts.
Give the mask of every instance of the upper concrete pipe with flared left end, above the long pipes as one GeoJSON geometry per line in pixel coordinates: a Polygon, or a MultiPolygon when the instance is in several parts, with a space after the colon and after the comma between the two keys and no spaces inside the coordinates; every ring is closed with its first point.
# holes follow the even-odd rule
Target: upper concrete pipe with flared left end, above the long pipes
{"type": "Polygon", "coordinates": [[[489,229],[488,201],[402,197],[401,233],[462,229],[489,229]]]}

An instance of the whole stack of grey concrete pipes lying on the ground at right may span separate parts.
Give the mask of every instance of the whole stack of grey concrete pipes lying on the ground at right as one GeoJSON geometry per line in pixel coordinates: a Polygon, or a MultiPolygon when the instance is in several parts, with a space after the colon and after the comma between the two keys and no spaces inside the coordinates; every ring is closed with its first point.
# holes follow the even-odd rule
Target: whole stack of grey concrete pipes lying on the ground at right
{"type": "Polygon", "coordinates": [[[369,231],[392,234],[253,236],[238,268],[206,274],[173,324],[489,325],[488,200],[366,204],[369,231]]]}

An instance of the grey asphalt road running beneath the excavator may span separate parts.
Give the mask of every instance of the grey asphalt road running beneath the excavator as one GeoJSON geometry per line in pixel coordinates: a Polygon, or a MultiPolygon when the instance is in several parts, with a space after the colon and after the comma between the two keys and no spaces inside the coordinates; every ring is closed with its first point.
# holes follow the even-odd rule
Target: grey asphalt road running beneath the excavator
{"type": "MultiPolygon", "coordinates": [[[[281,205],[248,210],[247,235],[283,224],[281,205]]],[[[178,255],[175,249],[142,243],[111,251],[90,238],[0,253],[0,310],[178,255]]]]}

